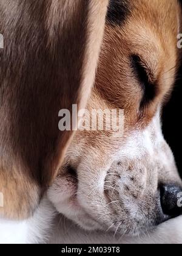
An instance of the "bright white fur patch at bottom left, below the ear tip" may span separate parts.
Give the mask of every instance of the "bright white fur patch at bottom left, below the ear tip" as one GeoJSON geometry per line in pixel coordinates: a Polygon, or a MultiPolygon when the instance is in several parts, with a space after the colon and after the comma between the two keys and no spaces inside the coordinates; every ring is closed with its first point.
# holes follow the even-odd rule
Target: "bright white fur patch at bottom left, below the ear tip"
{"type": "Polygon", "coordinates": [[[25,221],[0,219],[0,244],[46,243],[52,230],[55,209],[43,199],[35,215],[25,221]]]}

